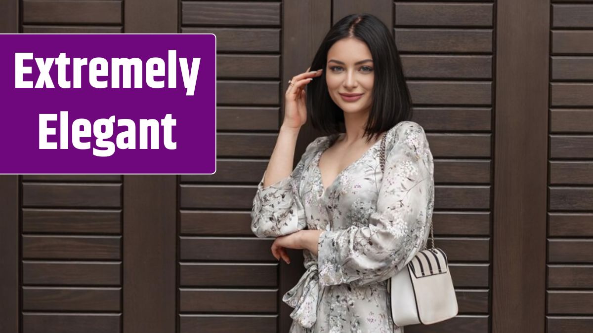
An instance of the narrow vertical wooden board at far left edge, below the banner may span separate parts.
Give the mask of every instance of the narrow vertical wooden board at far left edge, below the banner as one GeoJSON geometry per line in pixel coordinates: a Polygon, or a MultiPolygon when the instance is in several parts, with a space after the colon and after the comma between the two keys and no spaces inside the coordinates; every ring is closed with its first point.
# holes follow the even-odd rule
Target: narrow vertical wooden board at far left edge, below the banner
{"type": "Polygon", "coordinates": [[[0,175],[0,332],[19,332],[18,175],[0,175]]]}

